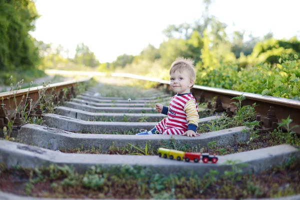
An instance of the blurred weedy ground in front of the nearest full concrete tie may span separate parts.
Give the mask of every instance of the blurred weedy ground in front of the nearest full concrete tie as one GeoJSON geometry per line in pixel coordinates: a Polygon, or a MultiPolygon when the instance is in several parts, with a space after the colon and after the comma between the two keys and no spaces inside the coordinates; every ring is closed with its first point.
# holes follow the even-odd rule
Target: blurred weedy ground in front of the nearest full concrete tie
{"type": "Polygon", "coordinates": [[[141,166],[92,166],[83,174],[70,166],[0,167],[0,190],[55,198],[262,198],[300,193],[300,162],[295,157],[260,174],[230,161],[231,170],[203,177],[182,171],[164,175],[141,166]]]}

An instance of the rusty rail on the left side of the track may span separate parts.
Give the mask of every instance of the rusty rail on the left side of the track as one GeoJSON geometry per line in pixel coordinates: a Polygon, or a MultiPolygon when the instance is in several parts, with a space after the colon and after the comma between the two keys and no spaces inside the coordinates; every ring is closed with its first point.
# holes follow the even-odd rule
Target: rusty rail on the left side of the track
{"type": "MultiPolygon", "coordinates": [[[[19,105],[19,109],[23,109],[25,105],[28,106],[31,101],[32,108],[35,109],[35,112],[30,112],[31,115],[41,116],[42,111],[39,106],[39,91],[44,90],[45,95],[53,95],[53,101],[58,102],[62,98],[68,100],[71,95],[75,95],[74,86],[77,83],[85,82],[90,80],[91,77],[80,79],[80,80],[70,80],[64,82],[58,82],[53,84],[46,84],[46,86],[36,86],[31,88],[24,88],[12,91],[6,91],[0,93],[0,128],[3,128],[4,125],[7,125],[8,119],[14,119],[14,125],[20,125],[20,117],[16,107],[19,105]],[[64,96],[64,88],[68,88],[70,92],[64,96]],[[22,101],[22,102],[21,102],[22,101]],[[16,115],[15,115],[16,114],[16,115]]],[[[26,107],[25,110],[28,110],[26,107]]]]}

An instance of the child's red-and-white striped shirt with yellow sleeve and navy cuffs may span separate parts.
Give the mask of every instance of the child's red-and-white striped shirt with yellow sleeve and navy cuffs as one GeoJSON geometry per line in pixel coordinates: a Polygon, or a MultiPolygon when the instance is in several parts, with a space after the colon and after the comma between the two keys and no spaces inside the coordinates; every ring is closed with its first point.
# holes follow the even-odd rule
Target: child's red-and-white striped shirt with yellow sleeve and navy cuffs
{"type": "Polygon", "coordinates": [[[174,95],[169,107],[163,106],[161,113],[167,114],[166,127],[196,132],[199,122],[198,106],[191,92],[174,95]]]}

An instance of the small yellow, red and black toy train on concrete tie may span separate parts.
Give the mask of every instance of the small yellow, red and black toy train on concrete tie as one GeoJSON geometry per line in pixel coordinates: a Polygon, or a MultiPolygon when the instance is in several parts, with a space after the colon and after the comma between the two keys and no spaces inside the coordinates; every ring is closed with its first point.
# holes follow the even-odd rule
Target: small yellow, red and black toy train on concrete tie
{"type": "Polygon", "coordinates": [[[198,162],[202,155],[202,161],[204,163],[207,163],[208,161],[211,161],[212,163],[216,163],[218,158],[215,156],[215,154],[209,155],[208,153],[196,153],[196,152],[184,152],[180,150],[173,150],[168,148],[158,148],[158,155],[159,157],[164,158],[176,158],[177,160],[184,159],[185,161],[189,162],[189,160],[193,160],[194,162],[198,162]]]}

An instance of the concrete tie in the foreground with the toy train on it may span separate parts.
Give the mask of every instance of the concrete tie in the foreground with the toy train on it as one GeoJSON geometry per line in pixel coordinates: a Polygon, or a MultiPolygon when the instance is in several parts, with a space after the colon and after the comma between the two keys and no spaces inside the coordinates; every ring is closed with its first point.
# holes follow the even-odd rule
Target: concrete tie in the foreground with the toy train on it
{"type": "Polygon", "coordinates": [[[239,152],[229,155],[219,155],[218,162],[193,163],[165,159],[157,155],[110,155],[110,154],[81,154],[81,153],[61,153],[45,148],[20,144],[17,142],[0,140],[0,162],[5,162],[6,166],[19,164],[23,167],[40,167],[49,164],[73,165],[78,172],[83,173],[92,165],[141,165],[152,167],[154,172],[170,174],[193,171],[199,176],[204,175],[210,169],[218,170],[222,174],[225,170],[231,169],[231,164],[226,164],[228,160],[238,160],[237,163],[247,163],[248,166],[243,171],[254,173],[278,166],[289,159],[290,155],[300,157],[300,151],[287,144],[271,146],[262,149],[239,152]]]}

